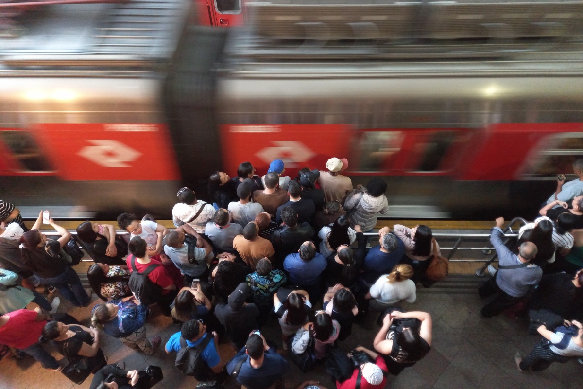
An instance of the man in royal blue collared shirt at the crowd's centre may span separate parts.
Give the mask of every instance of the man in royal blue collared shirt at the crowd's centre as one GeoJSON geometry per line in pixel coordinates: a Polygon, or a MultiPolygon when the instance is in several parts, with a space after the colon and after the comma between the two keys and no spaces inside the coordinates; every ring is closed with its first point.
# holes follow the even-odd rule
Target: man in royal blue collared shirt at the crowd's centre
{"type": "Polygon", "coordinates": [[[328,262],[324,255],[316,253],[312,241],[305,241],[297,253],[287,255],[283,260],[283,269],[289,274],[289,282],[308,292],[312,302],[321,297],[320,275],[328,262]]]}

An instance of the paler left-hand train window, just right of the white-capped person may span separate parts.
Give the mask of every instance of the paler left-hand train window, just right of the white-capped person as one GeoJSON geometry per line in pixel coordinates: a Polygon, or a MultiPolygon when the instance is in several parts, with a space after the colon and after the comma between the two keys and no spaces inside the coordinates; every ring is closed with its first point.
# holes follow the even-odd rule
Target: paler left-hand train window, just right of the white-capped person
{"type": "Polygon", "coordinates": [[[401,151],[403,131],[363,131],[354,155],[356,171],[384,171],[389,159],[401,151]]]}

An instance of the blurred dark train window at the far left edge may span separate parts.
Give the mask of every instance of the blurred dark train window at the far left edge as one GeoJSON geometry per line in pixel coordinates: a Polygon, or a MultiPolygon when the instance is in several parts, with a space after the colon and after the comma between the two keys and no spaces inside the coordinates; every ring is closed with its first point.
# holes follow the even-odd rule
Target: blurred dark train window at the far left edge
{"type": "Polygon", "coordinates": [[[51,171],[33,137],[26,131],[0,131],[0,139],[20,164],[20,171],[51,171]]]}

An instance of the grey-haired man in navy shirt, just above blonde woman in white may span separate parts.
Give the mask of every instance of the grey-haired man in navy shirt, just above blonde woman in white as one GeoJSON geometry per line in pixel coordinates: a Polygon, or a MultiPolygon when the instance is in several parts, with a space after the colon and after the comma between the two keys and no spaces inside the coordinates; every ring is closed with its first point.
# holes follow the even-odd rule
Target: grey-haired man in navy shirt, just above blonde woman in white
{"type": "Polygon", "coordinates": [[[373,286],[381,275],[389,274],[405,254],[403,241],[392,234],[389,227],[383,227],[378,234],[380,245],[368,250],[364,258],[363,274],[360,275],[368,288],[373,286]]]}

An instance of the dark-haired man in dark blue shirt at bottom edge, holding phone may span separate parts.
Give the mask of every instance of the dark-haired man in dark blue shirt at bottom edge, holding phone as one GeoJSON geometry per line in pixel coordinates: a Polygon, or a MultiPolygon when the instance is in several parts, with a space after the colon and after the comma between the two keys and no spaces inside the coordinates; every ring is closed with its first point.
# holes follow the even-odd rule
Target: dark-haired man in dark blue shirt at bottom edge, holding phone
{"type": "Polygon", "coordinates": [[[252,333],[247,344],[227,363],[231,374],[238,362],[243,364],[237,374],[237,382],[249,389],[266,389],[276,384],[283,388],[283,374],[289,369],[287,360],[270,348],[263,335],[252,333]]]}

